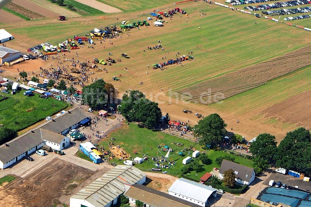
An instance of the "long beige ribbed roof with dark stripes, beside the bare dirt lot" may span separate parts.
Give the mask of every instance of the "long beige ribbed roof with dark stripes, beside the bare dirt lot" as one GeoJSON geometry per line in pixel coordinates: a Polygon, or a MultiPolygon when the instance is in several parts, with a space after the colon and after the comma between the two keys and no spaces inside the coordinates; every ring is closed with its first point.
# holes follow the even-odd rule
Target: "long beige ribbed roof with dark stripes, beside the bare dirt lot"
{"type": "Polygon", "coordinates": [[[135,184],[144,176],[145,173],[133,166],[117,165],[70,198],[87,200],[96,207],[102,207],[125,191],[124,184],[135,184]]]}

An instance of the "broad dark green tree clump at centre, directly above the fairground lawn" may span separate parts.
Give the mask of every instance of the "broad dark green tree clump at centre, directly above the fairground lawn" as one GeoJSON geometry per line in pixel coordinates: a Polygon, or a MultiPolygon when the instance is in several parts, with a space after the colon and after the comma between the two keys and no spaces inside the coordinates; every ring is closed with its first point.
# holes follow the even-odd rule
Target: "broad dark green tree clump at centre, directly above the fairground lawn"
{"type": "Polygon", "coordinates": [[[140,91],[130,91],[123,95],[118,109],[127,120],[142,122],[147,127],[158,127],[162,116],[158,103],[145,98],[140,91]]]}

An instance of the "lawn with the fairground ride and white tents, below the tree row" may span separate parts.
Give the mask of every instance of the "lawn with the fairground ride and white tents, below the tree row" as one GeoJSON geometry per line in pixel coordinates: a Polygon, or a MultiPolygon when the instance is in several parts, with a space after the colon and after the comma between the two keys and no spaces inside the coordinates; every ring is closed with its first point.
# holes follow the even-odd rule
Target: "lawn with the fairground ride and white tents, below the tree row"
{"type": "MultiPolygon", "coordinates": [[[[105,149],[107,149],[108,143],[111,142],[110,138],[115,138],[116,141],[114,141],[115,145],[120,145],[121,148],[124,147],[124,151],[131,155],[131,158],[135,157],[141,157],[142,154],[148,154],[149,161],[143,162],[141,164],[136,164],[135,167],[143,170],[143,171],[150,171],[151,168],[155,168],[156,166],[153,165],[153,161],[151,160],[151,156],[157,157],[161,156],[160,152],[165,155],[166,152],[162,152],[159,148],[160,152],[157,150],[157,145],[168,145],[173,149],[173,152],[170,153],[169,160],[176,161],[176,164],[174,167],[171,167],[170,169],[162,169],[162,171],[167,171],[169,174],[172,174],[174,176],[180,175],[180,169],[184,166],[182,163],[182,160],[186,158],[187,156],[192,156],[192,152],[194,149],[199,150],[201,153],[205,152],[208,155],[208,158],[211,159],[210,164],[204,165],[200,161],[200,164],[202,165],[202,171],[201,172],[191,172],[190,177],[193,178],[200,178],[203,174],[206,172],[210,172],[214,167],[219,167],[215,163],[215,159],[220,156],[224,155],[230,155],[235,158],[235,162],[246,165],[248,167],[251,167],[252,161],[241,158],[235,155],[231,155],[228,153],[225,153],[223,151],[214,151],[214,150],[203,150],[201,149],[200,145],[191,142],[186,139],[182,139],[176,136],[171,136],[169,134],[163,133],[163,132],[156,132],[152,130],[148,130],[146,128],[140,128],[136,124],[131,123],[130,125],[125,125],[118,131],[112,132],[108,135],[109,139],[104,140],[103,142],[100,142],[100,145],[103,145],[105,149]],[[177,146],[174,145],[175,143],[183,143],[183,146],[177,146]],[[192,145],[193,149],[190,151],[184,151],[184,156],[178,155],[178,152],[180,150],[183,150],[184,147],[189,148],[189,146],[192,145]],[[150,147],[152,150],[150,150],[150,147]],[[134,154],[134,150],[137,152],[137,154],[134,154]],[[190,155],[188,155],[188,152],[190,152],[190,155]]],[[[80,156],[77,154],[77,156],[80,156]]],[[[83,156],[81,156],[83,158],[83,156]]],[[[84,158],[83,158],[84,159],[84,158]]],[[[90,160],[90,159],[88,159],[90,160]]],[[[110,162],[115,163],[121,163],[123,164],[123,160],[119,161],[118,159],[113,159],[110,162]]]]}

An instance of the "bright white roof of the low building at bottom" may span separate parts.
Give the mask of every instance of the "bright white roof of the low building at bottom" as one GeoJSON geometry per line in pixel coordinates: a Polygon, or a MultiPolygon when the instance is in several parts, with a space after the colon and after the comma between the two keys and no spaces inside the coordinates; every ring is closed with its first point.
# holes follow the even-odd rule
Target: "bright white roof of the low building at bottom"
{"type": "Polygon", "coordinates": [[[184,178],[179,178],[169,188],[169,191],[205,203],[206,200],[216,192],[216,189],[184,178]]]}

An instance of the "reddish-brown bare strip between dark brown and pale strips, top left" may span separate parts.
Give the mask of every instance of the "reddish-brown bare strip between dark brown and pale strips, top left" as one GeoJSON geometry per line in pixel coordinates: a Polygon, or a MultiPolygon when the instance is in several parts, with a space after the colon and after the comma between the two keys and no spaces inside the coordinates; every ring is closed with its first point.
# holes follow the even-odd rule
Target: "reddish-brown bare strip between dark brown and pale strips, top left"
{"type": "Polygon", "coordinates": [[[31,2],[30,0],[13,0],[12,3],[21,5],[22,7],[30,11],[36,12],[47,18],[58,18],[58,16],[60,16],[58,13],[50,11],[44,7],[40,7],[39,5],[35,4],[34,2],[31,2]]]}

